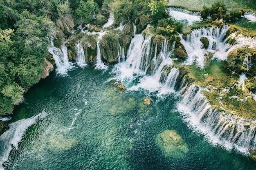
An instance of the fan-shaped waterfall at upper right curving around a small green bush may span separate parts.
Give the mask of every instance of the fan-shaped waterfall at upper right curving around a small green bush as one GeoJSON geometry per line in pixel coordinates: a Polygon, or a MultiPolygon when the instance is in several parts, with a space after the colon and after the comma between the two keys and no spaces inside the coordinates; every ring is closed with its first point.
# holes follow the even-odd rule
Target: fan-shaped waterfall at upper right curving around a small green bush
{"type": "MultiPolygon", "coordinates": [[[[230,51],[234,50],[231,48],[230,44],[225,43],[225,35],[229,26],[224,25],[219,27],[208,27],[194,29],[191,33],[186,35],[186,38],[181,40],[184,45],[186,52],[188,53],[188,58],[184,64],[193,64],[194,61],[197,62],[200,68],[204,67],[205,54],[214,53],[213,57],[219,60],[226,60],[227,55],[230,51]],[[204,49],[200,38],[205,37],[209,40],[209,47],[204,49]]],[[[182,35],[180,36],[182,37],[182,35]]]]}

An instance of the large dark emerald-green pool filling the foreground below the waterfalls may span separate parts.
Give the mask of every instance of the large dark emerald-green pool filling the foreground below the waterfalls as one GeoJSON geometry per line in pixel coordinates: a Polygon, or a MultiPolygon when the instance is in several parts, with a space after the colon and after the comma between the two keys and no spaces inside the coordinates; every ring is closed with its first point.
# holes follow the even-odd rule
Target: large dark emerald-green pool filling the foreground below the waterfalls
{"type": "Polygon", "coordinates": [[[45,112],[4,163],[6,170],[254,170],[256,162],[212,146],[176,110],[179,97],[120,91],[108,71],[51,73],[33,86],[11,121],[45,112]],[[151,105],[143,99],[150,97],[151,105]],[[188,151],[164,155],[157,135],[175,130],[188,151]]]}

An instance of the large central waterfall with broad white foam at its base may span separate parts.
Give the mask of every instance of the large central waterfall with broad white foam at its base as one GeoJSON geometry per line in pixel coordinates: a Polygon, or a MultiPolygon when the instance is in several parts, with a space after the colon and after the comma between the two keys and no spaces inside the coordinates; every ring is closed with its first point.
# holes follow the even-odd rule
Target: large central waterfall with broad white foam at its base
{"type": "MultiPolygon", "coordinates": [[[[172,66],[173,60],[170,51],[170,45],[167,40],[161,44],[161,49],[157,53],[156,44],[153,50],[151,44],[151,35],[137,34],[132,39],[125,62],[117,64],[114,73],[117,78],[124,82],[126,86],[139,78],[137,85],[128,87],[129,90],[139,90],[143,88],[149,92],[158,91],[159,96],[166,93],[173,93],[175,82],[179,74],[177,68],[170,68],[169,71],[162,71],[164,66],[172,66]],[[150,75],[148,75],[150,71],[150,75]],[[161,79],[163,79],[161,81],[161,79]]],[[[174,46],[173,46],[174,48],[174,46]]]]}

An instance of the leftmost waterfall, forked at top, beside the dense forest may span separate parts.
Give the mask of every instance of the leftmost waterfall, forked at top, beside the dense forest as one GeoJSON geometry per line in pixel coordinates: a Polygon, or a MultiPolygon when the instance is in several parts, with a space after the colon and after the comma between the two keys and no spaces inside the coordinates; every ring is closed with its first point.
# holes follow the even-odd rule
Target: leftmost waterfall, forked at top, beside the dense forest
{"type": "Polygon", "coordinates": [[[67,75],[67,71],[73,68],[72,63],[68,61],[67,46],[65,43],[66,41],[61,46],[61,49],[59,49],[58,47],[54,46],[52,41],[52,47],[48,48],[49,53],[53,55],[55,64],[57,66],[56,72],[59,75],[67,75]]]}

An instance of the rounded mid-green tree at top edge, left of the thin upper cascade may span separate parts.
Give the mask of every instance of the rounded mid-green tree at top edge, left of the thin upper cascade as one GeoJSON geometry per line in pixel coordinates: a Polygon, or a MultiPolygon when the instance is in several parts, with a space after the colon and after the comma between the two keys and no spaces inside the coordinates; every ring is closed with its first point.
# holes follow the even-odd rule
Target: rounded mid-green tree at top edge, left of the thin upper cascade
{"type": "Polygon", "coordinates": [[[99,12],[97,3],[93,0],[88,0],[87,2],[83,2],[81,0],[79,7],[74,12],[76,15],[75,20],[77,23],[89,23],[92,21],[92,15],[94,12],[99,12]]]}

